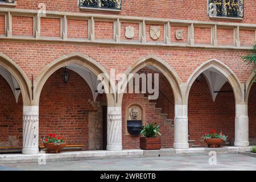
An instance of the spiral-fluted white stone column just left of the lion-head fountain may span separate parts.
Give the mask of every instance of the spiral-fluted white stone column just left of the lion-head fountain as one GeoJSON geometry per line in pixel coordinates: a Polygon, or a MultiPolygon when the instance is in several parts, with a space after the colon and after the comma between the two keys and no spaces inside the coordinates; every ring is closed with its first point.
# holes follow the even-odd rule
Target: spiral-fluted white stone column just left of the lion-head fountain
{"type": "Polygon", "coordinates": [[[121,107],[108,107],[107,150],[122,150],[122,110],[121,107]]]}

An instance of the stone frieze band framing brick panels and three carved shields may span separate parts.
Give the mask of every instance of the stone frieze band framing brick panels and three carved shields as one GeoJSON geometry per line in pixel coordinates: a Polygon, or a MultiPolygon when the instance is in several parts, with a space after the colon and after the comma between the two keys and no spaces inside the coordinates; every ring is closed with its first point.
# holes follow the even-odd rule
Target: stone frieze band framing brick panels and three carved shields
{"type": "MultiPolygon", "coordinates": [[[[49,42],[76,42],[76,43],[93,43],[93,44],[129,44],[135,46],[164,46],[164,47],[198,47],[198,48],[220,48],[220,49],[249,49],[252,46],[240,46],[240,36],[239,30],[252,30],[256,32],[256,24],[246,24],[246,23],[225,23],[225,22],[203,22],[203,21],[193,21],[193,20],[175,20],[175,19],[159,19],[159,18],[144,18],[144,17],[133,17],[133,16],[120,16],[120,15],[98,15],[98,14],[79,14],[79,13],[67,13],[67,12],[56,12],[56,11],[46,11],[46,16],[43,18],[48,19],[61,19],[61,26],[59,26],[61,36],[54,36],[54,38],[49,38],[44,36],[42,29],[42,17],[38,14],[36,10],[20,10],[20,9],[5,9],[0,8],[1,14],[6,17],[5,26],[5,36],[0,36],[0,39],[6,40],[22,40],[22,41],[49,41],[49,42]],[[12,16],[31,16],[34,17],[34,26],[32,37],[22,36],[22,35],[12,35],[12,29],[14,26],[12,23],[12,16]],[[81,35],[81,39],[69,38],[68,34],[68,20],[85,20],[88,22],[88,35],[81,35]],[[95,22],[114,22],[113,31],[110,32],[114,35],[113,39],[96,39],[96,34],[100,34],[98,29],[96,30],[95,22]],[[125,23],[125,31],[121,31],[122,23],[125,23]],[[129,25],[130,23],[130,25],[129,25]],[[136,30],[139,34],[139,39],[133,39],[135,36],[134,24],[140,24],[139,30],[136,30]],[[149,28],[146,28],[150,25],[149,28]],[[154,26],[151,26],[154,25],[154,26]],[[164,28],[161,28],[164,27],[164,28]],[[172,27],[184,27],[183,31],[181,28],[175,29],[172,27]],[[209,31],[208,36],[212,41],[208,44],[195,44],[195,38],[199,38],[197,32],[194,31],[195,27],[206,28],[209,31]],[[236,36],[234,36],[234,45],[218,45],[217,42],[217,28],[236,28],[236,36]],[[161,30],[162,29],[162,30],[161,30]],[[185,31],[187,30],[187,31],[185,31]],[[163,32],[162,32],[163,31],[163,32]],[[174,32],[175,31],[175,32],[174,32]],[[122,35],[121,35],[122,32],[122,35]],[[162,35],[164,36],[162,40],[162,35]],[[147,37],[148,36],[148,37],[147,37]],[[160,40],[161,36],[161,40],[160,40]],[[89,39],[83,39],[88,37],[89,39]],[[124,37],[126,39],[121,39],[124,37]],[[148,39],[149,38],[149,39],[148,39]],[[150,41],[158,40],[158,41],[150,41]],[[179,40],[179,41],[175,41],[179,40]]],[[[55,30],[55,29],[54,29],[55,30]]],[[[79,33],[77,33],[79,34],[79,33]]],[[[86,32],[87,34],[87,32],[86,32]]],[[[256,34],[256,33],[255,33],[256,34]]],[[[256,37],[256,36],[255,36],[256,37]]],[[[256,38],[255,38],[256,40],[256,38]]]]}

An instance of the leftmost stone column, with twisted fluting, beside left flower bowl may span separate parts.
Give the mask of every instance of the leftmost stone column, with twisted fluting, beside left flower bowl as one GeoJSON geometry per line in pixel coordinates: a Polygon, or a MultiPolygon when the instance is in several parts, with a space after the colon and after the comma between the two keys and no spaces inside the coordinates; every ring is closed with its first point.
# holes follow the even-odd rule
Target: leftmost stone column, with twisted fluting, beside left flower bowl
{"type": "Polygon", "coordinates": [[[23,106],[22,154],[38,154],[39,107],[23,106]]]}

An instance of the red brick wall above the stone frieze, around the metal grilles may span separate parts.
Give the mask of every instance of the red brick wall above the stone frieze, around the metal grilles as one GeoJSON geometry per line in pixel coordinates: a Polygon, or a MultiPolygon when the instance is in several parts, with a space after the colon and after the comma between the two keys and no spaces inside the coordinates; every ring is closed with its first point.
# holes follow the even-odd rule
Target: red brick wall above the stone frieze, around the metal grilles
{"type": "MultiPolygon", "coordinates": [[[[92,13],[92,11],[81,11],[77,6],[77,0],[66,1],[49,1],[49,0],[16,0],[17,9],[39,9],[39,3],[46,4],[48,11],[69,11],[92,13]]],[[[254,0],[244,1],[244,19],[241,23],[256,23],[256,4],[254,0]]],[[[149,1],[149,0],[130,0],[122,1],[122,10],[119,15],[126,16],[147,16],[152,18],[172,18],[172,19],[191,19],[216,21],[209,19],[207,14],[207,1],[149,1]]],[[[117,14],[106,13],[105,11],[93,11],[97,14],[117,14]]],[[[219,20],[218,20],[219,21],[219,20]]],[[[234,22],[234,20],[221,20],[223,22],[234,22]]]]}

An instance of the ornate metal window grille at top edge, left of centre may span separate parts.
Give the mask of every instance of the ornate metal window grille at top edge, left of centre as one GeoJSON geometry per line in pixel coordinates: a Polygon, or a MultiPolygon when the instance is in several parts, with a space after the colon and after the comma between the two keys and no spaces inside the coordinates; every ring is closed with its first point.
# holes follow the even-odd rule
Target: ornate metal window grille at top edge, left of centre
{"type": "Polygon", "coordinates": [[[122,0],[80,0],[79,6],[121,10],[122,0]]]}

